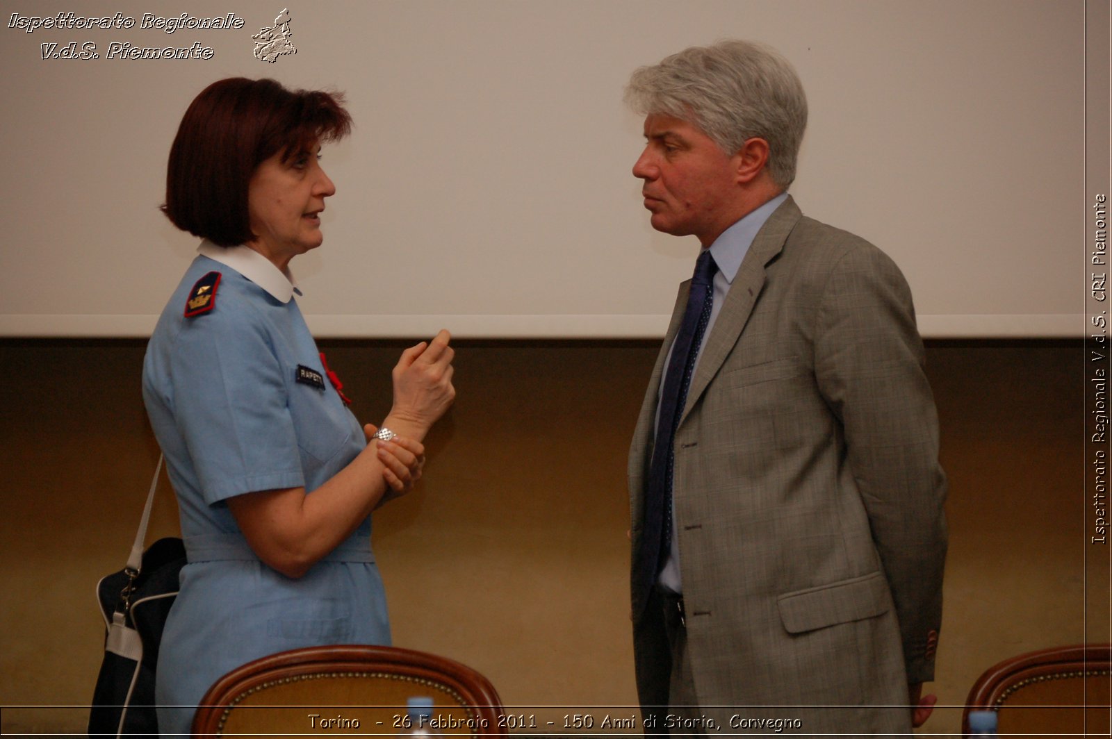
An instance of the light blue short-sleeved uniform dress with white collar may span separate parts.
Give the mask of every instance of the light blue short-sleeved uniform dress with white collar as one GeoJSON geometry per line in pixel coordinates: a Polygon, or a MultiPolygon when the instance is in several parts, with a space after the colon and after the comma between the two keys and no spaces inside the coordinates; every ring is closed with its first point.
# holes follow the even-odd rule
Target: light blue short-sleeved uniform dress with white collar
{"type": "Polygon", "coordinates": [[[159,318],[142,376],[189,560],[158,656],[165,735],[187,735],[205,692],[245,662],[312,645],[390,642],[369,518],[291,579],[259,561],[228,510],[228,498],[257,490],[304,486],[312,495],[366,439],[328,380],[289,273],[247,247],[203,242],[198,251],[159,318]]]}

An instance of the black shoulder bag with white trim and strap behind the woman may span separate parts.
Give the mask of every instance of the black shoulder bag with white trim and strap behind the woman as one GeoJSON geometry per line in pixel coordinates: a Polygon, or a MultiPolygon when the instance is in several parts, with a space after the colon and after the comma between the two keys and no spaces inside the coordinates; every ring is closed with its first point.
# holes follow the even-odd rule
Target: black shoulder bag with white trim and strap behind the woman
{"type": "MultiPolygon", "coordinates": [[[[161,467],[161,460],[159,460],[161,467]]],[[[147,499],[137,547],[147,533],[147,499]]],[[[138,549],[118,572],[97,583],[97,600],[105,617],[105,658],[97,676],[89,711],[89,736],[158,737],[155,713],[155,667],[162,627],[178,595],[178,573],[186,563],[181,539],[159,539],[137,557],[138,549]],[[136,561],[138,560],[138,561],[136,561]]]]}

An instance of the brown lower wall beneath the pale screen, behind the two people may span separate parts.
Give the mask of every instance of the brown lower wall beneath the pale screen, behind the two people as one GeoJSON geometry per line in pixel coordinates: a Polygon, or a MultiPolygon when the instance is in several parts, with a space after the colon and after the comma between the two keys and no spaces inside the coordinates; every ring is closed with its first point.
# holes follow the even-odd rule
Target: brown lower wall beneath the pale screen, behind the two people
{"type": "MultiPolygon", "coordinates": [[[[360,419],[388,409],[403,347],[321,342],[360,419]]],[[[457,352],[458,400],[428,439],[426,478],[375,520],[395,642],[471,665],[514,712],[634,703],[625,457],[656,346],[457,352]]],[[[0,342],[0,703],[91,697],[93,585],[122,566],[158,456],[142,353],[141,341],[0,342]]],[[[931,689],[960,706],[997,660],[1085,639],[1084,581],[1102,570],[1083,541],[1084,357],[1080,342],[931,342],[927,364],[951,481],[931,689]]],[[[163,489],[150,540],[176,531],[163,489]]],[[[86,716],[6,709],[2,730],[80,732],[86,716]]],[[[926,728],[959,726],[943,708],[926,728]]]]}

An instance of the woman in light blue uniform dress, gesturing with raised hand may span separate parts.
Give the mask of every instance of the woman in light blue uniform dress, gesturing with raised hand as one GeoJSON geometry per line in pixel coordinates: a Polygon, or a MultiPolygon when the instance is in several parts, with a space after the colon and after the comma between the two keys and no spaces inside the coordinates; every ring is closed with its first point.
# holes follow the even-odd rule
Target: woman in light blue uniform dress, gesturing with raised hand
{"type": "Polygon", "coordinates": [[[197,97],[170,152],[163,211],[203,241],[143,362],[188,555],[158,658],[162,733],[189,733],[250,660],[390,641],[370,512],[420,477],[453,350],[441,331],[403,352],[390,413],[360,428],[306,328],[289,262],[324,239],[320,142],[349,128],[339,96],[237,78],[197,97]]]}

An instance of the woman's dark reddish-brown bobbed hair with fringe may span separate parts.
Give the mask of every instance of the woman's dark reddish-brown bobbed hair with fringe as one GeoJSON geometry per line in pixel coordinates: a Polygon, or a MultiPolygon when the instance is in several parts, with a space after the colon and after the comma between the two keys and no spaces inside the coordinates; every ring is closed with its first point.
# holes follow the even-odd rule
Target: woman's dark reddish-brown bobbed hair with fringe
{"type": "Polygon", "coordinates": [[[279,151],[288,161],[314,141],[347,136],[351,116],[342,103],[340,93],[290,91],[275,80],[234,77],[208,86],[170,147],[162,212],[221,247],[254,240],[247,190],[255,170],[279,151]]]}

